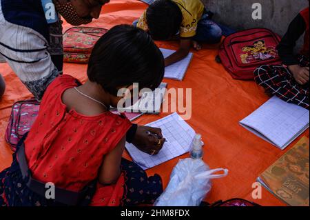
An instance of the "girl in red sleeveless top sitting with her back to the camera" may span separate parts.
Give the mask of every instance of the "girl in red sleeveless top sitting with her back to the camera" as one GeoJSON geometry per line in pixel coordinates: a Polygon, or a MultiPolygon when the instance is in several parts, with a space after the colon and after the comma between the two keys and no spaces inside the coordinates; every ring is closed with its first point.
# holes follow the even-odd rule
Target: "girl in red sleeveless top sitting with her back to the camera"
{"type": "Polygon", "coordinates": [[[48,86],[12,165],[0,172],[0,206],[153,203],[163,192],[161,177],[147,177],[122,158],[131,123],[109,106],[125,103],[133,83],[154,90],[163,74],[163,54],[143,30],[122,25],[107,32],[92,50],[83,85],[64,74],[48,86]],[[46,183],[54,185],[54,198],[46,183]]]}

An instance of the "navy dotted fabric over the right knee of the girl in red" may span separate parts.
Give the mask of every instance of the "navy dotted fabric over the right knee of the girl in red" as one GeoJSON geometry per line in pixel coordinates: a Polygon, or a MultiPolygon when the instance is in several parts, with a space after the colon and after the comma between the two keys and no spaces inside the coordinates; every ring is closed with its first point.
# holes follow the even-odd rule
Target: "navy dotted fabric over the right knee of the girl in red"
{"type": "Polygon", "coordinates": [[[152,204],[163,192],[163,183],[158,174],[147,177],[142,168],[126,159],[122,159],[122,170],[125,172],[127,191],[123,198],[124,206],[135,206],[139,203],[152,204]]]}

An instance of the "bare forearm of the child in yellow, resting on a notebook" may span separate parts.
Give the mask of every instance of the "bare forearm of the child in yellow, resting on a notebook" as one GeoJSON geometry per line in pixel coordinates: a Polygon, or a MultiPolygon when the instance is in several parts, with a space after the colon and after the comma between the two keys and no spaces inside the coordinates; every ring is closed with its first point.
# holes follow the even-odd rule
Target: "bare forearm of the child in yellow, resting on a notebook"
{"type": "Polygon", "coordinates": [[[180,48],[174,54],[171,54],[165,59],[165,66],[170,66],[182,59],[188,54],[192,46],[192,39],[180,39],[180,48]]]}

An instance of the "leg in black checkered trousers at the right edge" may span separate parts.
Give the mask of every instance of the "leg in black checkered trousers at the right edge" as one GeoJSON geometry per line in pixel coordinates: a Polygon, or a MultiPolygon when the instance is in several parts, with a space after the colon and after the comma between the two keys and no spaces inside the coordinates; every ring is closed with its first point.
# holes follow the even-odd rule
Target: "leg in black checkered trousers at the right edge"
{"type": "Polygon", "coordinates": [[[267,94],[309,109],[309,85],[299,85],[287,67],[260,66],[254,71],[254,77],[267,94]]]}

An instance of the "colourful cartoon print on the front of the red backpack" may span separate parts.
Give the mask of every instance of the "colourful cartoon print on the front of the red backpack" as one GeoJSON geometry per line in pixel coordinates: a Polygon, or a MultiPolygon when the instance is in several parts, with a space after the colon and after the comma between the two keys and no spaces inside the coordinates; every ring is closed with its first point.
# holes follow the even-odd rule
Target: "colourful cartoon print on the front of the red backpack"
{"type": "Polygon", "coordinates": [[[240,54],[242,63],[274,59],[278,55],[275,47],[265,46],[264,39],[255,41],[251,46],[244,46],[242,52],[245,52],[240,54]]]}

